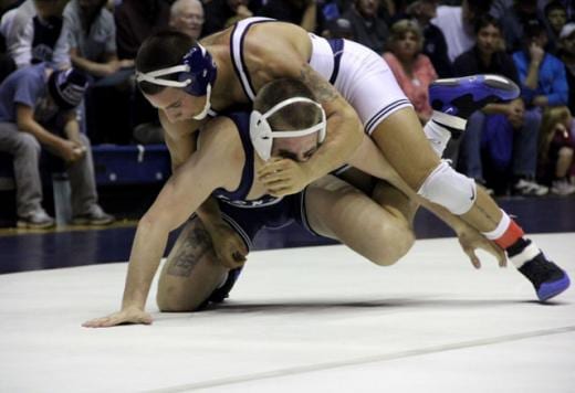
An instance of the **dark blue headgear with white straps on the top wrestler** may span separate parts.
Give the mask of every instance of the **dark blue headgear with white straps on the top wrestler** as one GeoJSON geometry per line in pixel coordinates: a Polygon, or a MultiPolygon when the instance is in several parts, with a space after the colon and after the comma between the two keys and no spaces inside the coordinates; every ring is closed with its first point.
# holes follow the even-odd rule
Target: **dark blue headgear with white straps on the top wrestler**
{"type": "Polygon", "coordinates": [[[181,64],[167,68],[136,72],[136,81],[148,82],[154,85],[178,87],[192,96],[206,96],[203,109],[194,118],[201,120],[210,110],[211,85],[216,81],[217,68],[210,53],[203,46],[196,43],[181,60],[181,64]],[[178,79],[169,79],[163,76],[179,74],[178,79]]]}

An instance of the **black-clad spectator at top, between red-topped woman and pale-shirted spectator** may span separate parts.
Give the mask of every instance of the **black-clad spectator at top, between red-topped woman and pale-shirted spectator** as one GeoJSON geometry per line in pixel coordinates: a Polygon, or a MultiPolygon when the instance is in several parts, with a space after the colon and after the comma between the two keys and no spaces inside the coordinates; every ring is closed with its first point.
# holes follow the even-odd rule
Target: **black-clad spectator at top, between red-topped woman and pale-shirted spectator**
{"type": "Polygon", "coordinates": [[[437,17],[439,0],[415,0],[406,8],[406,18],[411,18],[419,24],[424,33],[421,53],[427,55],[433,64],[439,77],[453,76],[453,66],[447,52],[446,38],[441,30],[431,23],[437,17]]]}

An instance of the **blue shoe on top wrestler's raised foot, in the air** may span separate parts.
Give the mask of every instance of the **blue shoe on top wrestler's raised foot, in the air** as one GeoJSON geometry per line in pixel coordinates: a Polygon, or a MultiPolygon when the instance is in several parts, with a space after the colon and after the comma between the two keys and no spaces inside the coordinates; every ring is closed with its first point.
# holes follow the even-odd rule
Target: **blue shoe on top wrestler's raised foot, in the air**
{"type": "Polygon", "coordinates": [[[514,99],[519,95],[518,85],[500,75],[437,79],[429,86],[429,102],[435,110],[463,119],[487,104],[514,99]]]}

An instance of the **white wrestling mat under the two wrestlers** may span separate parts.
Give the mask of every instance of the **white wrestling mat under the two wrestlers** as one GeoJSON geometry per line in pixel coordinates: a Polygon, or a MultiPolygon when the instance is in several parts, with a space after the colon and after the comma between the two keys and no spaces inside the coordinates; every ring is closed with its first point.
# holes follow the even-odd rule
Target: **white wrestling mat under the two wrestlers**
{"type": "MultiPolygon", "coordinates": [[[[575,234],[533,236],[575,277],[575,234]]],[[[343,246],[257,252],[216,310],[84,329],[126,264],[0,276],[0,392],[575,392],[575,289],[540,305],[489,256],[419,241],[377,267],[343,246]]],[[[155,295],[155,287],[153,288],[155,295]]]]}

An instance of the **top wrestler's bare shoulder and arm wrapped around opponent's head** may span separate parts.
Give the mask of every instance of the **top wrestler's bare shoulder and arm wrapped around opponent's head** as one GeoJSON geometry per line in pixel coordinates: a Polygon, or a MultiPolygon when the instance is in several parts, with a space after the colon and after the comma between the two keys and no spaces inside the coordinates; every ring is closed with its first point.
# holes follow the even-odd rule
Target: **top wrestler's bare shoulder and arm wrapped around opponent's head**
{"type": "Polygon", "coordinates": [[[284,173],[268,189],[274,195],[301,191],[306,184],[348,161],[359,147],[363,126],[355,109],[334,86],[307,64],[311,54],[307,33],[293,24],[262,23],[253,26],[245,36],[243,55],[254,88],[265,83],[290,77],[305,83],[322,104],[327,117],[327,136],[323,146],[306,162],[292,160],[271,161],[259,173],[265,182],[270,173],[284,173]]]}

